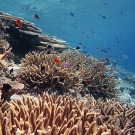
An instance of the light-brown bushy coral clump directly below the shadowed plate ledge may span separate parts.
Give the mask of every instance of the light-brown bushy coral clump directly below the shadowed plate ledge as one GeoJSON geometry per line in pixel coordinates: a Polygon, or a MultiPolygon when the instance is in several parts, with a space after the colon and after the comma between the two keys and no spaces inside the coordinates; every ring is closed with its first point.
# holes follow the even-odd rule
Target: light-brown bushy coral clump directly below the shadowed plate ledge
{"type": "Polygon", "coordinates": [[[83,85],[80,84],[79,72],[65,68],[63,64],[57,64],[55,57],[59,57],[61,62],[63,59],[58,54],[46,54],[42,52],[29,52],[25,58],[21,60],[21,69],[19,78],[27,87],[32,88],[59,88],[63,92],[69,89],[79,89],[83,85]],[[41,70],[41,68],[44,68],[41,70]]]}

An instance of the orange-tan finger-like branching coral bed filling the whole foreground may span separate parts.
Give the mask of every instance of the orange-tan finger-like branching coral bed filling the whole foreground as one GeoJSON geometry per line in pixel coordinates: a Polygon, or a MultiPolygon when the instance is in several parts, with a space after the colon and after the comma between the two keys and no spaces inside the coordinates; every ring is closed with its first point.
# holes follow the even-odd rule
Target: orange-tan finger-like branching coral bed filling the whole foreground
{"type": "MultiPolygon", "coordinates": [[[[6,103],[7,106],[4,105],[6,107],[4,112],[3,107],[0,108],[0,134],[129,135],[135,133],[133,107],[130,107],[130,111],[125,109],[124,115],[119,115],[118,119],[128,117],[128,121],[120,123],[123,126],[119,126],[117,123],[110,124],[109,121],[105,123],[100,112],[102,107],[99,101],[96,102],[92,97],[89,101],[91,108],[85,98],[79,101],[70,96],[56,98],[55,93],[51,95],[44,93],[43,97],[38,96],[38,98],[23,96],[22,99],[14,99],[6,103]],[[95,108],[95,104],[98,107],[95,108]]],[[[111,102],[113,101],[108,101],[107,104],[111,104],[111,102]]],[[[103,102],[102,104],[106,105],[103,102]]],[[[124,108],[120,104],[119,107],[124,108]]],[[[116,108],[119,107],[113,106],[116,117],[119,111],[116,108]]],[[[112,120],[107,109],[104,112],[112,120]]]]}

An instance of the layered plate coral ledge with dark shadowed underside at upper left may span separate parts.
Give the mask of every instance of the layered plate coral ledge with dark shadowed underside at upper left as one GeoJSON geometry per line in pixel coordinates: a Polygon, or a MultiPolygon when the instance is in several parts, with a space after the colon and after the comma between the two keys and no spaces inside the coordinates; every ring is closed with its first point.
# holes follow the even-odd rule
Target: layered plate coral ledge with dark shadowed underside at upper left
{"type": "Polygon", "coordinates": [[[65,41],[43,34],[41,29],[23,18],[0,12],[0,23],[2,37],[9,42],[16,57],[22,58],[31,50],[48,50],[53,47],[54,50],[61,52],[68,48],[65,41]],[[16,24],[17,19],[22,22],[21,29],[16,24]]]}

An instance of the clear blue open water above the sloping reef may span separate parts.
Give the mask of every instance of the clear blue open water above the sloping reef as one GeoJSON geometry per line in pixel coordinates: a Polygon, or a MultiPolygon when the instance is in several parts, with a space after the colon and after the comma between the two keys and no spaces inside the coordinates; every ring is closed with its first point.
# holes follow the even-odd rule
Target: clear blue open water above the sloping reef
{"type": "Polygon", "coordinates": [[[0,10],[135,73],[135,0],[0,0],[0,10]]]}

